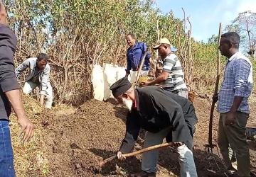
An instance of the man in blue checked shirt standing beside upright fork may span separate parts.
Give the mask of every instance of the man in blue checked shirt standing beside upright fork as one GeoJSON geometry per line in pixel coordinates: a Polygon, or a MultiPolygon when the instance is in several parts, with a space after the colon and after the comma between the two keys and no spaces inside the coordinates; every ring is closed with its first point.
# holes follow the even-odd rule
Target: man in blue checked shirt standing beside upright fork
{"type": "Polygon", "coordinates": [[[245,131],[250,113],[248,98],[252,92],[252,63],[239,52],[239,43],[238,33],[221,35],[219,50],[228,62],[220,91],[213,96],[213,101],[218,101],[218,146],[225,166],[233,176],[249,177],[250,153],[245,131]],[[230,160],[233,152],[237,166],[230,160]]]}

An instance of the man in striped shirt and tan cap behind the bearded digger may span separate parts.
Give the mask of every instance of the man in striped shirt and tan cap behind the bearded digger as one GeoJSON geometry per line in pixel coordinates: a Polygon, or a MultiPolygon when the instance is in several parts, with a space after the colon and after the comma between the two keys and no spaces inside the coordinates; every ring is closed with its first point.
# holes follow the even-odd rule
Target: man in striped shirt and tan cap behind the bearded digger
{"type": "Polygon", "coordinates": [[[184,74],[181,68],[181,62],[178,57],[171,52],[172,48],[167,38],[162,38],[159,41],[159,45],[153,47],[154,50],[159,51],[159,55],[164,62],[163,71],[156,79],[144,82],[143,86],[161,84],[164,90],[188,98],[188,89],[183,79],[184,74]]]}

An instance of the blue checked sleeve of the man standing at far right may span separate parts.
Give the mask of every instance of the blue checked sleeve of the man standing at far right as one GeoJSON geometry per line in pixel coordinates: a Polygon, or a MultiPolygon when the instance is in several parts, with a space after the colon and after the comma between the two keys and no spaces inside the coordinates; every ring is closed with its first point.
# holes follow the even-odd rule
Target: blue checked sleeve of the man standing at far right
{"type": "Polygon", "coordinates": [[[248,78],[251,71],[251,65],[245,59],[238,59],[233,65],[233,74],[235,75],[235,96],[248,97],[249,89],[248,78]]]}

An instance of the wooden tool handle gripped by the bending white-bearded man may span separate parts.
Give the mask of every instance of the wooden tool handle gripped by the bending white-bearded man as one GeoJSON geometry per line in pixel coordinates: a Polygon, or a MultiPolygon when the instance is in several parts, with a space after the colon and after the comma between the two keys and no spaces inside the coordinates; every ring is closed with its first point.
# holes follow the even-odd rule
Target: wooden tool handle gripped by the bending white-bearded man
{"type": "MultiPolygon", "coordinates": [[[[163,143],[163,144],[158,144],[158,145],[155,145],[155,146],[146,147],[146,148],[141,149],[141,150],[139,150],[137,152],[132,152],[132,153],[124,154],[124,156],[125,157],[135,156],[137,154],[142,154],[144,152],[148,152],[148,151],[151,151],[151,150],[154,150],[154,149],[159,149],[161,147],[168,147],[168,146],[171,146],[171,145],[173,145],[173,142],[166,142],[166,143],[163,143]]],[[[104,161],[100,162],[100,167],[104,166],[107,162],[112,161],[116,157],[117,157],[117,155],[110,156],[110,158],[107,158],[104,161]]]]}

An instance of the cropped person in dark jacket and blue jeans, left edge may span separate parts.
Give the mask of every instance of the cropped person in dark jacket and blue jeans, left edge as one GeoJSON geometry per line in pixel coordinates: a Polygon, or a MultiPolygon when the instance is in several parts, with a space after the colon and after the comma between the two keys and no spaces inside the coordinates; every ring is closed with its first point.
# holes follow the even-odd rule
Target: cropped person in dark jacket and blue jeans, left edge
{"type": "Polygon", "coordinates": [[[18,136],[23,134],[21,142],[26,143],[33,137],[34,128],[21,101],[20,87],[14,72],[17,38],[8,27],[6,18],[5,7],[0,1],[0,176],[15,177],[14,152],[9,128],[11,108],[21,126],[18,132],[18,136]]]}

